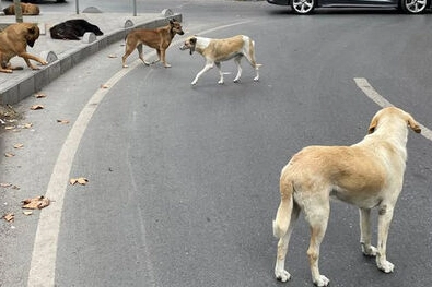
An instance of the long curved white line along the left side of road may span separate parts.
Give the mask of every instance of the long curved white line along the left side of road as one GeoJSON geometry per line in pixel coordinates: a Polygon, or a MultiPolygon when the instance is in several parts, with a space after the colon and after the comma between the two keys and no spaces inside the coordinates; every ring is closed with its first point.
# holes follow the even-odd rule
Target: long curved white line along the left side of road
{"type": "MultiPolygon", "coordinates": [[[[224,29],[235,25],[242,25],[252,22],[242,21],[232,24],[218,26],[211,29],[201,31],[201,34],[210,33],[218,29],[224,29]]],[[[182,39],[173,41],[172,45],[178,45],[183,43],[182,39]]],[[[148,52],[149,56],[154,56],[155,52],[148,52]]],[[[113,87],[130,71],[138,65],[142,64],[140,59],[132,62],[128,69],[121,69],[113,77],[110,77],[105,85],[113,87]]],[[[48,208],[40,211],[39,220],[37,225],[35,242],[33,246],[32,262],[30,265],[27,286],[28,287],[52,287],[55,286],[56,276],[56,260],[57,260],[57,248],[58,248],[58,236],[60,231],[61,213],[63,207],[63,200],[66,189],[69,183],[69,175],[72,167],[73,158],[77,150],[80,145],[81,139],[91,121],[95,110],[102,103],[104,97],[108,94],[110,88],[100,88],[87,101],[82,111],[77,118],[75,123],[70,130],[68,137],[66,139],[60,154],[57,158],[56,165],[51,174],[51,178],[48,183],[48,188],[45,196],[55,200],[48,208]]],[[[141,224],[141,231],[145,236],[144,225],[141,224]]],[[[150,261],[147,262],[149,266],[149,274],[151,282],[154,280],[152,274],[152,264],[150,261]]]]}

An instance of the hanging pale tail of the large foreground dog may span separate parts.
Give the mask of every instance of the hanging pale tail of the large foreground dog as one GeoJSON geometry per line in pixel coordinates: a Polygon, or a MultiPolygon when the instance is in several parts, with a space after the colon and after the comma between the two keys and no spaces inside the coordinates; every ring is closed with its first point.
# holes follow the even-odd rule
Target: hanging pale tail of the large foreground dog
{"type": "Polygon", "coordinates": [[[291,214],[294,204],[293,191],[294,188],[292,186],[292,181],[283,175],[282,170],[282,176],[280,179],[281,201],[276,214],[276,219],[273,220],[273,235],[276,238],[283,237],[290,226],[291,214]]]}

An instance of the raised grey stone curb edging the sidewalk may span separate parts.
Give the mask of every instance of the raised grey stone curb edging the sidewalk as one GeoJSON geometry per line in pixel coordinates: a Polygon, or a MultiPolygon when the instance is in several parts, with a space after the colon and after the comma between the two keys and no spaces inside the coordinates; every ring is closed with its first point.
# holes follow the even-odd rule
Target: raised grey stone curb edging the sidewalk
{"type": "Polygon", "coordinates": [[[150,22],[136,24],[120,28],[100,37],[95,41],[81,47],[79,49],[72,49],[61,55],[61,57],[43,67],[40,70],[35,71],[31,75],[11,81],[11,84],[3,87],[0,91],[0,105],[14,105],[23,100],[24,98],[39,92],[44,86],[50,84],[54,80],[59,77],[61,74],[72,69],[75,64],[92,56],[93,53],[106,48],[107,46],[124,40],[126,35],[133,28],[155,28],[162,25],[166,25],[170,20],[177,20],[182,22],[182,14],[172,14],[161,19],[152,20],[150,22]]]}

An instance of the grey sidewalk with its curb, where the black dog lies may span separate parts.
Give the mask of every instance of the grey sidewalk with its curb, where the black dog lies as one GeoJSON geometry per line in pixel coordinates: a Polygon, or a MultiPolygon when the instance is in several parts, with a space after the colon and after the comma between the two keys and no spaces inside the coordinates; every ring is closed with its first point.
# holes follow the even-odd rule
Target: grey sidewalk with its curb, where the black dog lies
{"type": "MultiPolygon", "coordinates": [[[[153,28],[164,25],[167,19],[182,21],[182,14],[173,14],[172,11],[164,10],[160,13],[145,13],[137,16],[119,13],[81,13],[77,15],[44,12],[37,16],[24,16],[24,22],[38,23],[40,28],[39,38],[33,48],[27,47],[27,52],[38,56],[50,63],[45,67],[38,65],[40,70],[33,71],[22,58],[12,58],[11,63],[21,65],[24,70],[14,71],[12,74],[0,73],[0,105],[14,105],[37,93],[86,57],[110,44],[124,40],[131,28],[153,28]],[[51,39],[49,28],[70,19],[85,19],[90,23],[97,25],[104,35],[97,36],[93,43],[85,43],[91,37],[83,37],[83,40],[51,39]]],[[[15,23],[14,15],[0,15],[0,26],[9,23],[15,23]]],[[[36,64],[36,62],[34,63],[36,64]]],[[[121,63],[119,62],[119,64],[121,63]]]]}

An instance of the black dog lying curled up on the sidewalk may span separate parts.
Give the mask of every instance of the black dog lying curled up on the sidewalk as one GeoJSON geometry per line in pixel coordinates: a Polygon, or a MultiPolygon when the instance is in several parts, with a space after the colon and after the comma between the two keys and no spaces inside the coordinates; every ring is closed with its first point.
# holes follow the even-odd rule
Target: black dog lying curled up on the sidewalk
{"type": "Polygon", "coordinates": [[[79,40],[86,32],[92,32],[96,36],[104,33],[98,26],[87,22],[84,19],[72,19],[61,22],[49,29],[52,39],[60,40],[79,40]]]}

